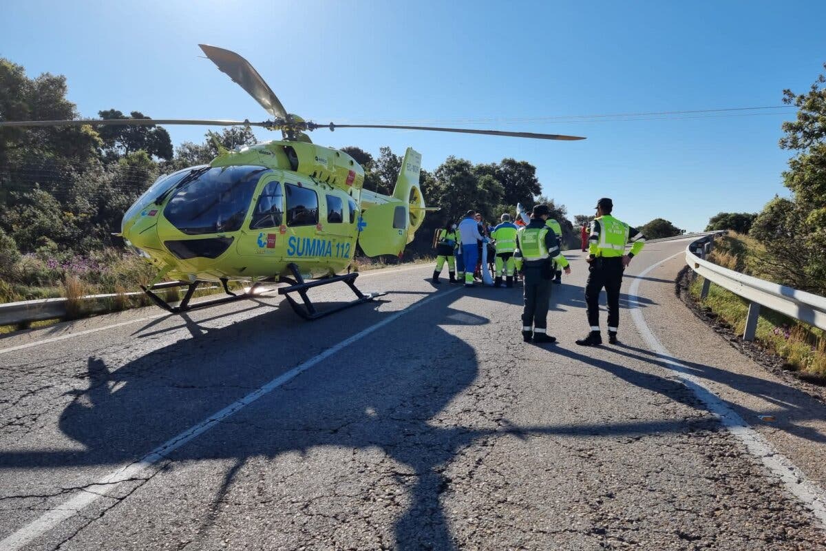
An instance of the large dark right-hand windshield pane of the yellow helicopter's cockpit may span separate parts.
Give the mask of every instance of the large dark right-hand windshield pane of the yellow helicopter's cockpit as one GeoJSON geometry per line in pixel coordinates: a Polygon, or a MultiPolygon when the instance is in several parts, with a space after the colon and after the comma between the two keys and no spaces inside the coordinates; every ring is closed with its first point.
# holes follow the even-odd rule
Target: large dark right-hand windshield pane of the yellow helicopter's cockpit
{"type": "Polygon", "coordinates": [[[255,186],[269,172],[259,166],[208,169],[173,190],[164,217],[188,235],[240,230],[255,186]]]}

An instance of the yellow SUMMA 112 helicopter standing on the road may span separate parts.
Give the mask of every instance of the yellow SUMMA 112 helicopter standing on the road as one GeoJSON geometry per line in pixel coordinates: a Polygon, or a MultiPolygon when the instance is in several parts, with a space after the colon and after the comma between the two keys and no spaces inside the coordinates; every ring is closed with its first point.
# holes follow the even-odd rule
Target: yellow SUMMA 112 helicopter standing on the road
{"type": "Polygon", "coordinates": [[[544,140],[578,136],[392,125],[317,125],[287,113],[249,62],[235,52],[200,45],[218,69],[240,85],[273,117],[271,121],[109,119],[0,121],[0,126],[209,125],[260,126],[282,131],[273,140],[221,150],[210,164],[159,178],[140,196],[121,223],[126,245],[157,268],[143,290],[167,311],[178,313],[259,294],[263,283],[287,283],[278,293],[297,314],[316,319],[384,293],[363,293],[350,273],[356,245],[368,256],[401,255],[421,226],[425,207],[419,187],[421,155],[406,150],[391,196],[362,188],[364,170],[344,151],[315,145],[307,131],[318,128],[389,128],[503,135],[544,140]],[[347,273],[343,273],[343,272],[347,273]],[[336,275],[341,273],[341,275],[336,275]],[[172,283],[158,283],[172,278],[172,283]],[[314,281],[307,281],[314,279],[314,281]],[[229,281],[252,283],[230,292],[229,281]],[[190,304],[201,283],[221,283],[227,297],[190,304]],[[318,311],[307,296],[312,287],[346,283],[353,302],[318,311]],[[170,304],[157,291],[187,287],[170,304]],[[291,293],[301,297],[299,304],[291,293]]]}

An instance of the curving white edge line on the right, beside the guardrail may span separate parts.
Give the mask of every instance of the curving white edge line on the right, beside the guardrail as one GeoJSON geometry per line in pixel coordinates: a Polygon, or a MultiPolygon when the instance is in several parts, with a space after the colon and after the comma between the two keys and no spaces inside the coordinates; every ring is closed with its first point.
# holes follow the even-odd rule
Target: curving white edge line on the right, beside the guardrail
{"type": "Polygon", "coordinates": [[[637,279],[634,279],[634,283],[631,283],[629,302],[632,306],[635,306],[631,310],[631,318],[634,320],[634,325],[637,326],[639,334],[643,336],[643,340],[648,344],[648,348],[662,359],[665,367],[676,373],[676,377],[694,392],[695,397],[699,398],[711,413],[719,417],[720,422],[726,430],[729,430],[732,435],[743,442],[748,452],[760,459],[771,474],[780,478],[783,486],[812,511],[814,516],[820,520],[821,528],[826,529],[826,492],[814,484],[814,482],[809,481],[803,471],[795,466],[795,463],[792,463],[789,458],[779,454],[767,439],[764,439],[762,435],[752,429],[736,411],[733,411],[733,409],[717,397],[714,392],[711,392],[710,388],[706,387],[700,378],[692,375],[689,369],[676,360],[674,354],[662,345],[652,330],[648,328],[648,324],[645,323],[637,294],[639,292],[639,283],[643,281],[641,278],[654,268],[681,254],[685,254],[685,252],[680,251],[667,259],[660,260],[657,264],[649,266],[644,269],[642,273],[638,274],[637,279]]]}

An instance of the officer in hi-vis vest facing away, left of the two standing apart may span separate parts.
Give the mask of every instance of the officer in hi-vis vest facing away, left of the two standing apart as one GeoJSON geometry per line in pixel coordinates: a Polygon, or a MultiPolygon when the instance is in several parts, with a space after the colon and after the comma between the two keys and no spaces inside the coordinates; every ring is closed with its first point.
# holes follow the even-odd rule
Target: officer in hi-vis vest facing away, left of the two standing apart
{"type": "Polygon", "coordinates": [[[525,271],[522,310],[522,338],[525,342],[553,343],[556,339],[548,335],[548,300],[551,294],[553,262],[571,273],[567,259],[559,252],[557,235],[545,221],[550,210],[548,205],[536,205],[528,226],[521,228],[516,236],[522,254],[525,271]]]}

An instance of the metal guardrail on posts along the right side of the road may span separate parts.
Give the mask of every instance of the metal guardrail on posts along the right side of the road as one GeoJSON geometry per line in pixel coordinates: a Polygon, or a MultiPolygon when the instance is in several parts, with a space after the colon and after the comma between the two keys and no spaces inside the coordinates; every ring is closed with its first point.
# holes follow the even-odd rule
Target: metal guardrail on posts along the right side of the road
{"type": "Polygon", "coordinates": [[[754,340],[761,306],[826,330],[826,297],[754,278],[706,260],[711,252],[714,237],[719,233],[724,232],[706,235],[688,245],[686,264],[694,271],[695,277],[700,275],[705,278],[700,298],[708,295],[710,284],[714,283],[748,300],[743,340],[754,340]]]}

